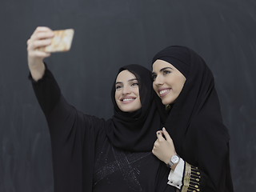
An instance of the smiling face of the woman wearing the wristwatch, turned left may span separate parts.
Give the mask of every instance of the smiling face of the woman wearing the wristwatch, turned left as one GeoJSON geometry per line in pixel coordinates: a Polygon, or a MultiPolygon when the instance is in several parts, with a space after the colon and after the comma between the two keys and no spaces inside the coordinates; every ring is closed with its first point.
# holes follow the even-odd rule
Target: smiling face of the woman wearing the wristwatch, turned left
{"type": "Polygon", "coordinates": [[[179,70],[162,60],[153,63],[152,78],[154,91],[164,105],[175,102],[186,82],[186,78],[179,70]]]}

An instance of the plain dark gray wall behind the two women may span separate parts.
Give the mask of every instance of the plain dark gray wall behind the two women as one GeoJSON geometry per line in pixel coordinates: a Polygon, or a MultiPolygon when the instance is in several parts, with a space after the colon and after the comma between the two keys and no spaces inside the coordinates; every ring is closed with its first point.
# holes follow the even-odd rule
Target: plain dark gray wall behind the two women
{"type": "Polygon", "coordinates": [[[0,191],[53,192],[50,135],[27,80],[26,40],[37,26],[73,28],[67,53],[46,59],[78,110],[110,118],[120,66],[189,46],[214,73],[230,130],[236,191],[256,190],[254,0],[1,0],[0,191]]]}

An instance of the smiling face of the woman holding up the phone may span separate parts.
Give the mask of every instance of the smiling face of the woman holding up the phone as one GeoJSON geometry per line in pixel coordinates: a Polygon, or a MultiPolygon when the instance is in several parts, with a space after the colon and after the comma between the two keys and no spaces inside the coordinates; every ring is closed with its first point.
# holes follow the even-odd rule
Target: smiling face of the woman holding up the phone
{"type": "Polygon", "coordinates": [[[115,102],[120,110],[134,112],[142,107],[138,80],[129,70],[122,70],[115,82],[115,102]]]}

